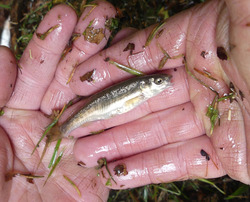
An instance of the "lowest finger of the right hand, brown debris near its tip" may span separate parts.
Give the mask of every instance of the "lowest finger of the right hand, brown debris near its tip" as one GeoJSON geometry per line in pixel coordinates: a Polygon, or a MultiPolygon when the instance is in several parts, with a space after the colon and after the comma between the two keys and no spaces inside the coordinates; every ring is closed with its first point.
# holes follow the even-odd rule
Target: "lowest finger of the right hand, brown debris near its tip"
{"type": "MultiPolygon", "coordinates": [[[[108,169],[117,183],[110,180],[112,185],[109,187],[112,189],[127,189],[151,183],[186,179],[216,178],[225,175],[206,136],[169,144],[108,163],[108,169]],[[209,154],[209,161],[201,155],[201,150],[209,154]]],[[[110,177],[105,167],[100,173],[103,184],[106,184],[110,177]]]]}

